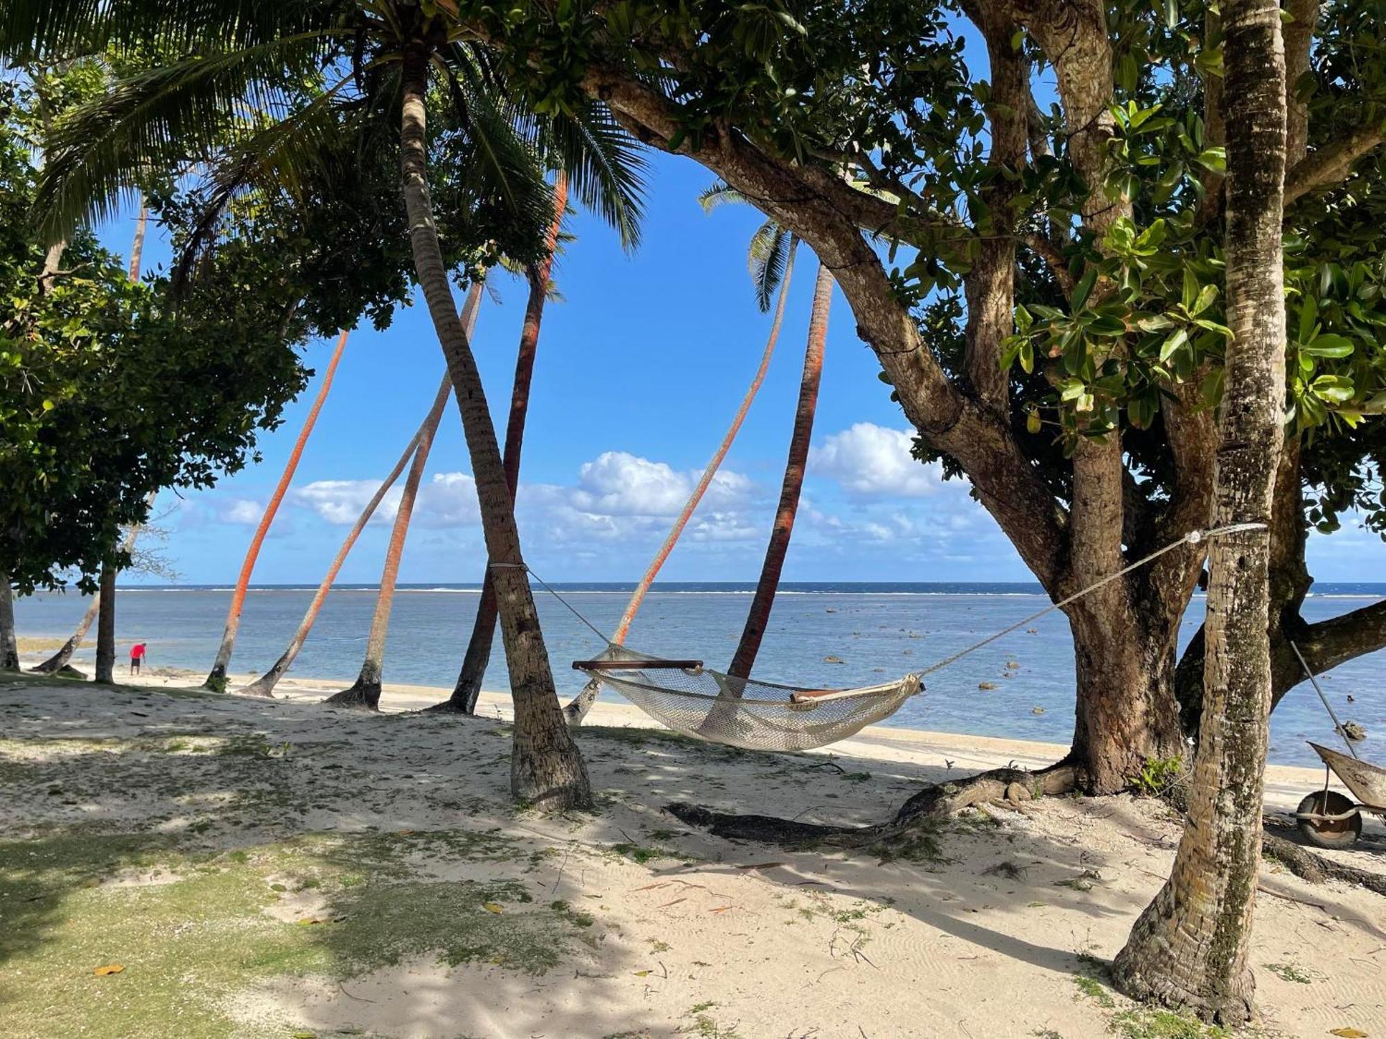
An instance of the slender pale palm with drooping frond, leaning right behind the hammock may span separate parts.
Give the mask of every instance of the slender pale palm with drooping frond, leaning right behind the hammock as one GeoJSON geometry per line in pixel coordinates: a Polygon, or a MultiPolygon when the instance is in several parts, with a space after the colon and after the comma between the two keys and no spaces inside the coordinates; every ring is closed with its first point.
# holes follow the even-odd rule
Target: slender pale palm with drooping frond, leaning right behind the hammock
{"type": "MultiPolygon", "coordinates": [[[[712,209],[715,205],[722,202],[743,199],[737,193],[732,191],[725,184],[714,184],[703,193],[699,201],[703,204],[704,209],[712,209]]],[[[722,436],[722,442],[717,446],[711,460],[708,460],[707,465],[703,468],[703,477],[699,479],[697,486],[693,488],[693,493],[689,495],[689,500],[683,503],[683,508],[674,520],[674,526],[669,529],[668,536],[664,539],[658,551],[654,553],[654,558],[650,560],[650,565],[644,568],[640,582],[631,593],[631,598],[625,604],[621,619],[617,622],[615,632],[611,634],[611,643],[614,646],[622,646],[625,643],[625,637],[631,630],[631,623],[635,621],[635,615],[644,603],[644,597],[649,593],[650,586],[654,583],[654,578],[658,576],[665,560],[669,558],[669,553],[674,551],[674,546],[678,544],[679,535],[682,535],[683,528],[687,526],[689,520],[693,517],[693,511],[703,500],[703,495],[705,495],[707,489],[712,485],[712,478],[717,475],[718,468],[721,468],[726,453],[732,449],[732,442],[736,439],[736,434],[740,431],[742,423],[746,421],[746,414],[751,409],[751,402],[755,400],[755,395],[760,392],[761,384],[765,381],[765,373],[769,368],[771,357],[775,353],[775,344],[779,342],[780,326],[784,321],[784,299],[789,295],[790,277],[794,273],[794,252],[797,248],[798,240],[794,238],[794,236],[780,233],[780,229],[769,220],[761,224],[755,234],[751,236],[747,266],[751,272],[751,281],[755,284],[757,302],[760,303],[761,310],[769,309],[771,299],[775,296],[776,288],[779,292],[779,298],[775,303],[775,319],[771,321],[771,332],[765,339],[765,349],[761,352],[761,363],[755,368],[755,374],[751,377],[751,385],[747,387],[746,395],[742,398],[740,407],[737,407],[736,413],[732,416],[732,424],[722,436]]],[[[588,711],[592,709],[592,704],[596,702],[597,693],[600,690],[600,682],[596,679],[588,680],[588,683],[582,687],[582,691],[564,708],[568,725],[582,725],[582,719],[586,718],[588,711]]]]}

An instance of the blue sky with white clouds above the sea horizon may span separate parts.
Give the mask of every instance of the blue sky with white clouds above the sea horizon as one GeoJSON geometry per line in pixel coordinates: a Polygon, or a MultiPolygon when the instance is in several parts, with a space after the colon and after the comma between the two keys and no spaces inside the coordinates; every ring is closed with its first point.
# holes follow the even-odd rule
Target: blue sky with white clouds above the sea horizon
{"type": "MultiPolygon", "coordinates": [[[[696,197],[711,176],[685,159],[650,158],[639,254],[624,254],[600,220],[578,212],[567,224],[577,238],[554,269],[563,299],[545,313],[518,497],[527,561],[547,580],[639,576],[722,436],[769,330],[746,273],[758,215],[747,206],[704,213],[696,197]]],[[[132,227],[129,217],[118,220],[105,238],[112,248],[128,248],[132,227]]],[[[151,241],[146,266],[166,255],[166,245],[151,241]]],[[[664,579],[754,580],[758,574],[798,392],[815,269],[812,252],[801,248],[769,374],[664,579]]],[[[503,273],[492,287],[474,350],[492,413],[503,424],[525,287],[503,273]]],[[[159,496],[155,513],[169,531],[166,554],[180,580],[234,580],[331,346],[310,345],[308,362],[319,374],[287,410],[284,425],[262,439],[259,465],[212,490],[159,496]]],[[[385,332],[352,332],[256,583],[322,578],[360,504],[421,420],[442,371],[423,306],[403,309],[385,332]]],[[[909,427],[877,371],[837,294],[805,500],[784,579],[1030,579],[966,485],[942,482],[936,467],[909,459],[909,427]]],[[[460,420],[449,407],[401,580],[480,579],[484,553],[470,471],[460,420]]],[[[340,580],[378,579],[394,500],[387,499],[358,542],[340,580]]],[[[1369,565],[1386,561],[1386,549],[1356,529],[1315,538],[1310,557],[1321,580],[1386,574],[1369,565]]]]}

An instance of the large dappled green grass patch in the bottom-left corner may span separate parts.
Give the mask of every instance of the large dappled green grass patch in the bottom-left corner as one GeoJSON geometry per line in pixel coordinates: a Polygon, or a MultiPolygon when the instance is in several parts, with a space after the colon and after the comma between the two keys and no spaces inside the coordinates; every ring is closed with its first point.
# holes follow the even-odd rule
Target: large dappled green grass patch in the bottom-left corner
{"type": "Polygon", "coordinates": [[[229,997],[274,975],[349,978],[431,953],[542,974],[590,916],[535,905],[518,880],[428,877],[431,862],[455,877],[459,863],[523,858],[460,830],[305,834],[222,853],[78,830],[0,842],[4,1033],[283,1039],[230,1020],[229,997]],[[272,914],[287,898],[298,900],[272,914]],[[125,970],[96,977],[104,964],[125,970]]]}

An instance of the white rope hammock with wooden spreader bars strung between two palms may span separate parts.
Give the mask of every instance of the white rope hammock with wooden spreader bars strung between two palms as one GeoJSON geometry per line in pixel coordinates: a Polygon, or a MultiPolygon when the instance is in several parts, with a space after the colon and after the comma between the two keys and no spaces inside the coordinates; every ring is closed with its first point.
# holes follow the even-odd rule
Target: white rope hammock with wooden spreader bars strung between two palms
{"type": "Polygon", "coordinates": [[[919,675],[859,689],[776,686],[614,644],[572,666],[678,733],[747,751],[826,747],[890,718],[923,691],[919,675]]]}

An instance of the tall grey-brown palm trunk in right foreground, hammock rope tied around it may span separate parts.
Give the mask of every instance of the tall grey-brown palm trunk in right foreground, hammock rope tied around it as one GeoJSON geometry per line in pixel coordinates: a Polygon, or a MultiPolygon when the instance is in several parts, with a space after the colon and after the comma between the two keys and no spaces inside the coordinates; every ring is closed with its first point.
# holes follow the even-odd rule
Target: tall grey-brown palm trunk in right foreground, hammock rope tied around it
{"type": "MultiPolygon", "coordinates": [[[[1222,17],[1225,256],[1235,338],[1218,418],[1213,520],[1268,525],[1285,407],[1285,51],[1272,0],[1229,0],[1222,17]]],[[[1268,529],[1224,536],[1209,549],[1203,716],[1189,817],[1170,880],[1113,964],[1128,995],[1224,1025],[1254,1013],[1249,953],[1271,709],[1268,557],[1268,529]]]]}

